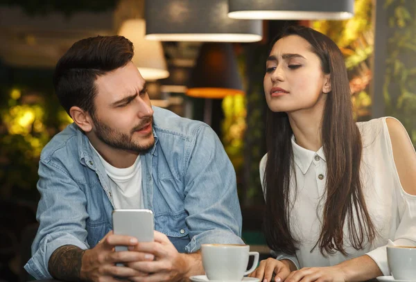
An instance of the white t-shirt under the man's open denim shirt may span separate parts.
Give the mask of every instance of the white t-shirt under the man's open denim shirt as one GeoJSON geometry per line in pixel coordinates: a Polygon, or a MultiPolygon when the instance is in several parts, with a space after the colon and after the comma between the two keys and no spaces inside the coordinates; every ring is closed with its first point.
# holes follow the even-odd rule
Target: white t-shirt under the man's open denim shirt
{"type": "Polygon", "coordinates": [[[115,168],[108,164],[97,150],[89,143],[91,148],[96,151],[98,157],[105,168],[105,172],[110,178],[110,189],[112,192],[115,209],[141,209],[143,202],[141,199],[141,159],[137,156],[135,164],[129,168],[115,168]]]}

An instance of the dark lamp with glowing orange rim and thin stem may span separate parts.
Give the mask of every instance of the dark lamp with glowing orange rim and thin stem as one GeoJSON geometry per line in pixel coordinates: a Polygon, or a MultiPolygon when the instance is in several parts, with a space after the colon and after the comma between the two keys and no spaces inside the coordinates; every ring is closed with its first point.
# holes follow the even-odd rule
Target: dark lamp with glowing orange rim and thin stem
{"type": "Polygon", "coordinates": [[[186,94],[205,98],[204,121],[211,123],[212,100],[243,94],[243,84],[230,43],[202,44],[186,94]]]}

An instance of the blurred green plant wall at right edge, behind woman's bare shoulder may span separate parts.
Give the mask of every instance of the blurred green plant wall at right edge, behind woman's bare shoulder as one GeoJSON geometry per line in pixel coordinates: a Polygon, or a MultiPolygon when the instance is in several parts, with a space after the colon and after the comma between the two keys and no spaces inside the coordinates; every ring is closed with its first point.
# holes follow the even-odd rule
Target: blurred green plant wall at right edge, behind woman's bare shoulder
{"type": "Polygon", "coordinates": [[[416,1],[385,0],[388,58],[383,85],[385,112],[398,118],[416,146],[416,1]]]}

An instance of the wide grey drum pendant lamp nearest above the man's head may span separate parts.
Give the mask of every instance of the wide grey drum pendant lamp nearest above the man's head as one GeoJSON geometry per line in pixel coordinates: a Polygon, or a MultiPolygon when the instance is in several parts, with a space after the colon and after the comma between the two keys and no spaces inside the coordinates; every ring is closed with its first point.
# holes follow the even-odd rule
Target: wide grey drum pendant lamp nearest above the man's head
{"type": "Polygon", "coordinates": [[[230,19],[227,0],[146,0],[146,39],[257,42],[259,20],[230,19]]]}

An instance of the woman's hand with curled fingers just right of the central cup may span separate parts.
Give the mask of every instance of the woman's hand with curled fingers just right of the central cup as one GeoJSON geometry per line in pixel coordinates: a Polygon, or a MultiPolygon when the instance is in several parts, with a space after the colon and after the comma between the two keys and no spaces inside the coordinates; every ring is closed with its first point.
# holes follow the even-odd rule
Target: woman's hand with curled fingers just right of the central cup
{"type": "Polygon", "coordinates": [[[275,258],[268,258],[261,261],[259,267],[257,267],[257,269],[254,270],[254,272],[252,272],[249,276],[256,277],[263,282],[284,281],[291,273],[290,266],[287,262],[292,263],[291,261],[283,263],[282,261],[277,261],[275,258]]]}

